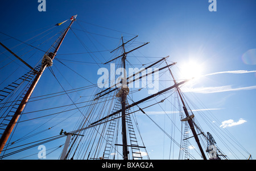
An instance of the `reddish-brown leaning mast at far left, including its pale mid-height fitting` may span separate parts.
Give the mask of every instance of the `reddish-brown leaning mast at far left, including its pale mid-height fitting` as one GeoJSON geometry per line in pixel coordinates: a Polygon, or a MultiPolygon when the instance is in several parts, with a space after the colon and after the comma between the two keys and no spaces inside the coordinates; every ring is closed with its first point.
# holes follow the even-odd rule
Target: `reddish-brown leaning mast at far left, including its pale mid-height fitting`
{"type": "Polygon", "coordinates": [[[3,148],[5,147],[5,144],[6,144],[7,140],[9,139],[9,136],[11,135],[11,132],[13,131],[13,129],[14,129],[17,121],[18,121],[18,119],[20,117],[20,114],[23,112],[23,110],[24,110],[28,100],[30,99],[30,96],[32,95],[32,92],[34,91],[34,89],[36,87],[36,84],[38,84],[39,79],[41,78],[44,70],[48,66],[52,66],[52,60],[56,56],[56,53],[59,50],[60,45],[63,42],[65,36],[67,35],[69,29],[71,28],[71,25],[75,21],[76,16],[77,15],[72,16],[71,24],[69,24],[69,26],[65,29],[65,32],[63,33],[63,35],[61,37],[59,37],[58,40],[56,41],[56,42],[59,42],[59,43],[57,44],[55,50],[53,52],[50,52],[48,55],[44,55],[41,69],[36,72],[36,76],[35,76],[34,81],[32,82],[30,88],[28,88],[28,91],[27,91],[26,95],[23,97],[22,101],[20,102],[20,104],[18,106],[18,109],[16,109],[16,112],[14,113],[14,116],[11,118],[9,124],[7,125],[5,131],[3,132],[3,135],[1,136],[1,139],[0,139],[0,153],[2,152],[3,148]]]}

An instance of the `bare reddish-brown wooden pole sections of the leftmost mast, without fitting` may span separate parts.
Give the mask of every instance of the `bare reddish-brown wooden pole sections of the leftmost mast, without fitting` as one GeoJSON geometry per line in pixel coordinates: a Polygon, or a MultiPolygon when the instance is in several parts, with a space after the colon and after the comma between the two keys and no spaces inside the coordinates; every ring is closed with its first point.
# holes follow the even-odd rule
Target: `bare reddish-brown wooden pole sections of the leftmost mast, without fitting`
{"type": "MultiPolygon", "coordinates": [[[[75,19],[72,20],[71,24],[69,24],[68,28],[66,29],[66,31],[64,32],[63,36],[61,37],[61,40],[59,42],[59,44],[57,45],[55,51],[53,52],[53,55],[51,56],[51,59],[53,59],[57,53],[57,50],[60,48],[61,43],[64,40],[64,37],[67,35],[68,30],[70,29],[71,25],[73,24],[73,22],[75,21],[75,19]]],[[[1,136],[0,139],[0,153],[3,150],[3,147],[5,147],[5,144],[9,138],[9,136],[11,135],[11,132],[14,129],[14,126],[16,125],[16,122],[19,119],[20,114],[22,113],[23,109],[25,108],[28,100],[30,99],[30,96],[32,94],[32,92],[34,91],[36,84],[38,83],[40,77],[43,74],[43,71],[46,69],[46,67],[48,66],[48,63],[45,62],[42,67],[41,70],[38,71],[38,73],[36,74],[36,77],[34,79],[34,81],[32,82],[30,88],[28,88],[28,91],[26,93],[26,95],[24,96],[22,102],[20,102],[18,109],[16,110],[16,112],[14,113],[13,118],[11,118],[11,121],[9,122],[9,124],[7,125],[5,131],[3,132],[3,135],[1,136]]]]}

